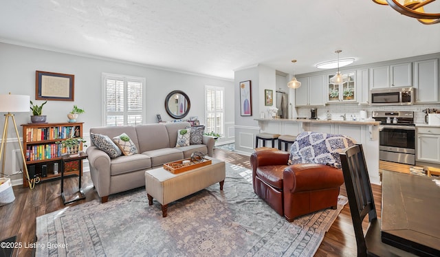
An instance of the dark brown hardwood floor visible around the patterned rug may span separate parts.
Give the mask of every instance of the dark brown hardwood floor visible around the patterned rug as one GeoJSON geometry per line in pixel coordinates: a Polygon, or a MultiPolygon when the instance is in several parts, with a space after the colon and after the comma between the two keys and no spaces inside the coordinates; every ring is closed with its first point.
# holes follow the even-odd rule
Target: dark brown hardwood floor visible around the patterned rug
{"type": "MultiPolygon", "coordinates": [[[[214,149],[214,158],[250,168],[250,159],[248,156],[239,155],[228,150],[214,149]]],[[[29,188],[23,188],[22,186],[15,186],[15,201],[0,207],[0,239],[17,235],[18,242],[23,244],[33,243],[35,241],[37,216],[63,208],[69,208],[70,206],[85,203],[86,201],[99,199],[96,190],[93,188],[88,172],[84,173],[82,183],[85,189],[86,199],[69,205],[63,205],[63,201],[61,200],[61,183],[59,179],[40,183],[34,190],[29,190],[29,188]]],[[[77,188],[77,186],[78,177],[65,179],[66,194],[72,193],[69,192],[69,188],[73,190],[73,188],[77,188]]],[[[372,185],[372,188],[377,214],[380,216],[382,188],[377,185],[372,185]]],[[[341,194],[346,195],[344,186],[341,188],[341,194]]],[[[364,221],[364,229],[366,229],[366,226],[367,223],[364,221]]],[[[18,256],[33,256],[32,249],[22,247],[18,250],[18,256]]],[[[329,232],[325,234],[325,238],[315,256],[356,256],[356,241],[348,204],[345,205],[329,232]]]]}

